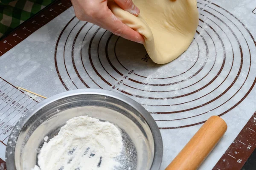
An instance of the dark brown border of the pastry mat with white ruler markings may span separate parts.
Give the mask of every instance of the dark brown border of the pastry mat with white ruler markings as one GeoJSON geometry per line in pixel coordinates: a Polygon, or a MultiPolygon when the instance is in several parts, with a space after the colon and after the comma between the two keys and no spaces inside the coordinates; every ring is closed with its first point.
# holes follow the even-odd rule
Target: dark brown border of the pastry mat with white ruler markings
{"type": "MultiPolygon", "coordinates": [[[[34,17],[22,23],[15,31],[0,40],[0,57],[71,6],[70,0],[56,0],[34,17]]],[[[213,170],[240,170],[253,150],[256,149],[256,140],[254,141],[254,139],[256,139],[256,112],[230,144],[213,170]]],[[[0,166],[3,163],[4,161],[0,159],[0,166]]]]}

